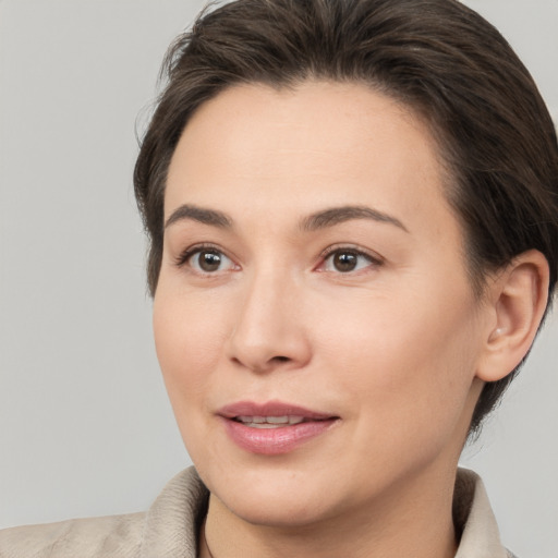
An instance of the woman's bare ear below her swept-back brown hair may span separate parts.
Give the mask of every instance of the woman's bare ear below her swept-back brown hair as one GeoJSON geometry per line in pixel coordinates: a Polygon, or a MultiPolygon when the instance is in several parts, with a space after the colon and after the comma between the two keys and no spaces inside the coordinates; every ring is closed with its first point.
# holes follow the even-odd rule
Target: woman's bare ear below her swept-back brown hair
{"type": "Polygon", "coordinates": [[[487,287],[490,319],[476,376],[504,378],[529,352],[548,301],[549,268],[545,256],[530,250],[515,257],[487,287]]]}

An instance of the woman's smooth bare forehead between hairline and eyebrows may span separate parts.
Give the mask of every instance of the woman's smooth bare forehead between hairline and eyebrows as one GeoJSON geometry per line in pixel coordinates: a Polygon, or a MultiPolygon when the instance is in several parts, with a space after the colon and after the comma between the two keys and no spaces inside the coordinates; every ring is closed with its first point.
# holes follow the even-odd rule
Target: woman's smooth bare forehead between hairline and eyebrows
{"type": "Polygon", "coordinates": [[[166,216],[184,203],[307,214],[371,204],[407,219],[450,209],[427,126],[352,83],[229,88],[192,117],[173,154],[166,216]],[[433,210],[436,208],[436,211],[433,210]]]}

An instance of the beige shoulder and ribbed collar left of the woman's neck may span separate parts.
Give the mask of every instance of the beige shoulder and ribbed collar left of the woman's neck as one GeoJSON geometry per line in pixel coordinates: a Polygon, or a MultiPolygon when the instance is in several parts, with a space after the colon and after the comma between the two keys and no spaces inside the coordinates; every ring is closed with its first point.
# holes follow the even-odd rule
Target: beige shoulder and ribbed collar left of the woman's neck
{"type": "Polygon", "coordinates": [[[0,558],[195,558],[207,499],[207,488],[189,468],[145,513],[0,530],[0,558]]]}

